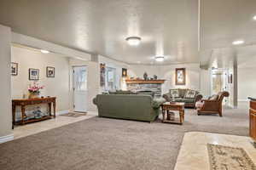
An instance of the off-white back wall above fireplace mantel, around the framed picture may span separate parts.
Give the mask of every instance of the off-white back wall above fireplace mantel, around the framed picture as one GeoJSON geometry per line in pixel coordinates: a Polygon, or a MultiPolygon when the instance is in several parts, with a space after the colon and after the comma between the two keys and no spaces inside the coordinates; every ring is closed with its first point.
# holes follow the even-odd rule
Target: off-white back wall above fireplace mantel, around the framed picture
{"type": "Polygon", "coordinates": [[[165,79],[166,82],[162,86],[162,92],[167,93],[171,88],[190,88],[201,89],[201,69],[199,64],[183,64],[183,65],[130,65],[128,67],[129,77],[143,78],[144,72],[148,77],[156,75],[158,79],[165,79]],[[186,68],[186,85],[175,85],[176,68],[186,68]]]}

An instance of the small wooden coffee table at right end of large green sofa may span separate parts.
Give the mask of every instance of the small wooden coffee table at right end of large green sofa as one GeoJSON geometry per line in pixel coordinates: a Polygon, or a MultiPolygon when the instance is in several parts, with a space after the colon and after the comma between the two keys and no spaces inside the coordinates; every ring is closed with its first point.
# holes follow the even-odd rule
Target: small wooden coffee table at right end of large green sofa
{"type": "Polygon", "coordinates": [[[175,123],[175,124],[183,124],[184,121],[184,103],[180,102],[166,102],[161,105],[162,108],[162,115],[163,119],[162,122],[170,122],[170,123],[175,123]],[[179,114],[179,120],[171,120],[170,114],[173,113],[172,111],[178,111],[179,114]],[[166,119],[167,115],[167,119],[166,119]]]}

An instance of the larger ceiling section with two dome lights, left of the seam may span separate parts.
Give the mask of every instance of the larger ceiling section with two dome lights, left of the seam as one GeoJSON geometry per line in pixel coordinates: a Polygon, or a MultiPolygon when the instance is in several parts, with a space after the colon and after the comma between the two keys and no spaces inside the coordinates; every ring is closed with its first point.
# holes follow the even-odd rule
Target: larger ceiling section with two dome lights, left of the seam
{"type": "Polygon", "coordinates": [[[127,63],[199,62],[197,0],[2,0],[13,31],[127,63]],[[142,37],[138,47],[126,37],[142,37]]]}

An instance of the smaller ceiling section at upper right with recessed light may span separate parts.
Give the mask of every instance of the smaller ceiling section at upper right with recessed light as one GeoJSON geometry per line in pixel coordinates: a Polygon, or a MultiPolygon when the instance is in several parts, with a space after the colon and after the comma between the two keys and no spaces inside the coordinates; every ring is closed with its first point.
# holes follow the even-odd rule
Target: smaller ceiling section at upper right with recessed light
{"type": "Polygon", "coordinates": [[[237,58],[238,64],[256,56],[255,0],[201,0],[201,64],[209,59],[226,65],[237,58]],[[244,40],[233,46],[232,42],[244,40]]]}

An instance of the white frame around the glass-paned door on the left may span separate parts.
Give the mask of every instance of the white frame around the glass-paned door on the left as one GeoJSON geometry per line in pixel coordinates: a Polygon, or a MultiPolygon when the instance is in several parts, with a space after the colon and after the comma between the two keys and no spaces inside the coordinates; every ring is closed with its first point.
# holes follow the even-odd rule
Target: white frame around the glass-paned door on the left
{"type": "MultiPolygon", "coordinates": [[[[71,69],[72,78],[70,80],[70,81],[72,81],[72,83],[70,83],[71,84],[71,91],[72,91],[72,105],[71,105],[71,108],[72,108],[73,112],[86,113],[88,111],[74,111],[74,77],[73,77],[73,75],[74,75],[74,68],[75,67],[86,67],[86,68],[88,68],[88,65],[72,65],[72,69],[71,69]]],[[[87,91],[88,91],[88,69],[87,69],[87,81],[86,82],[87,82],[87,91]]],[[[88,93],[87,93],[86,97],[87,97],[87,101],[88,101],[88,93]]],[[[88,110],[88,105],[87,105],[87,110],[88,110]]]]}

